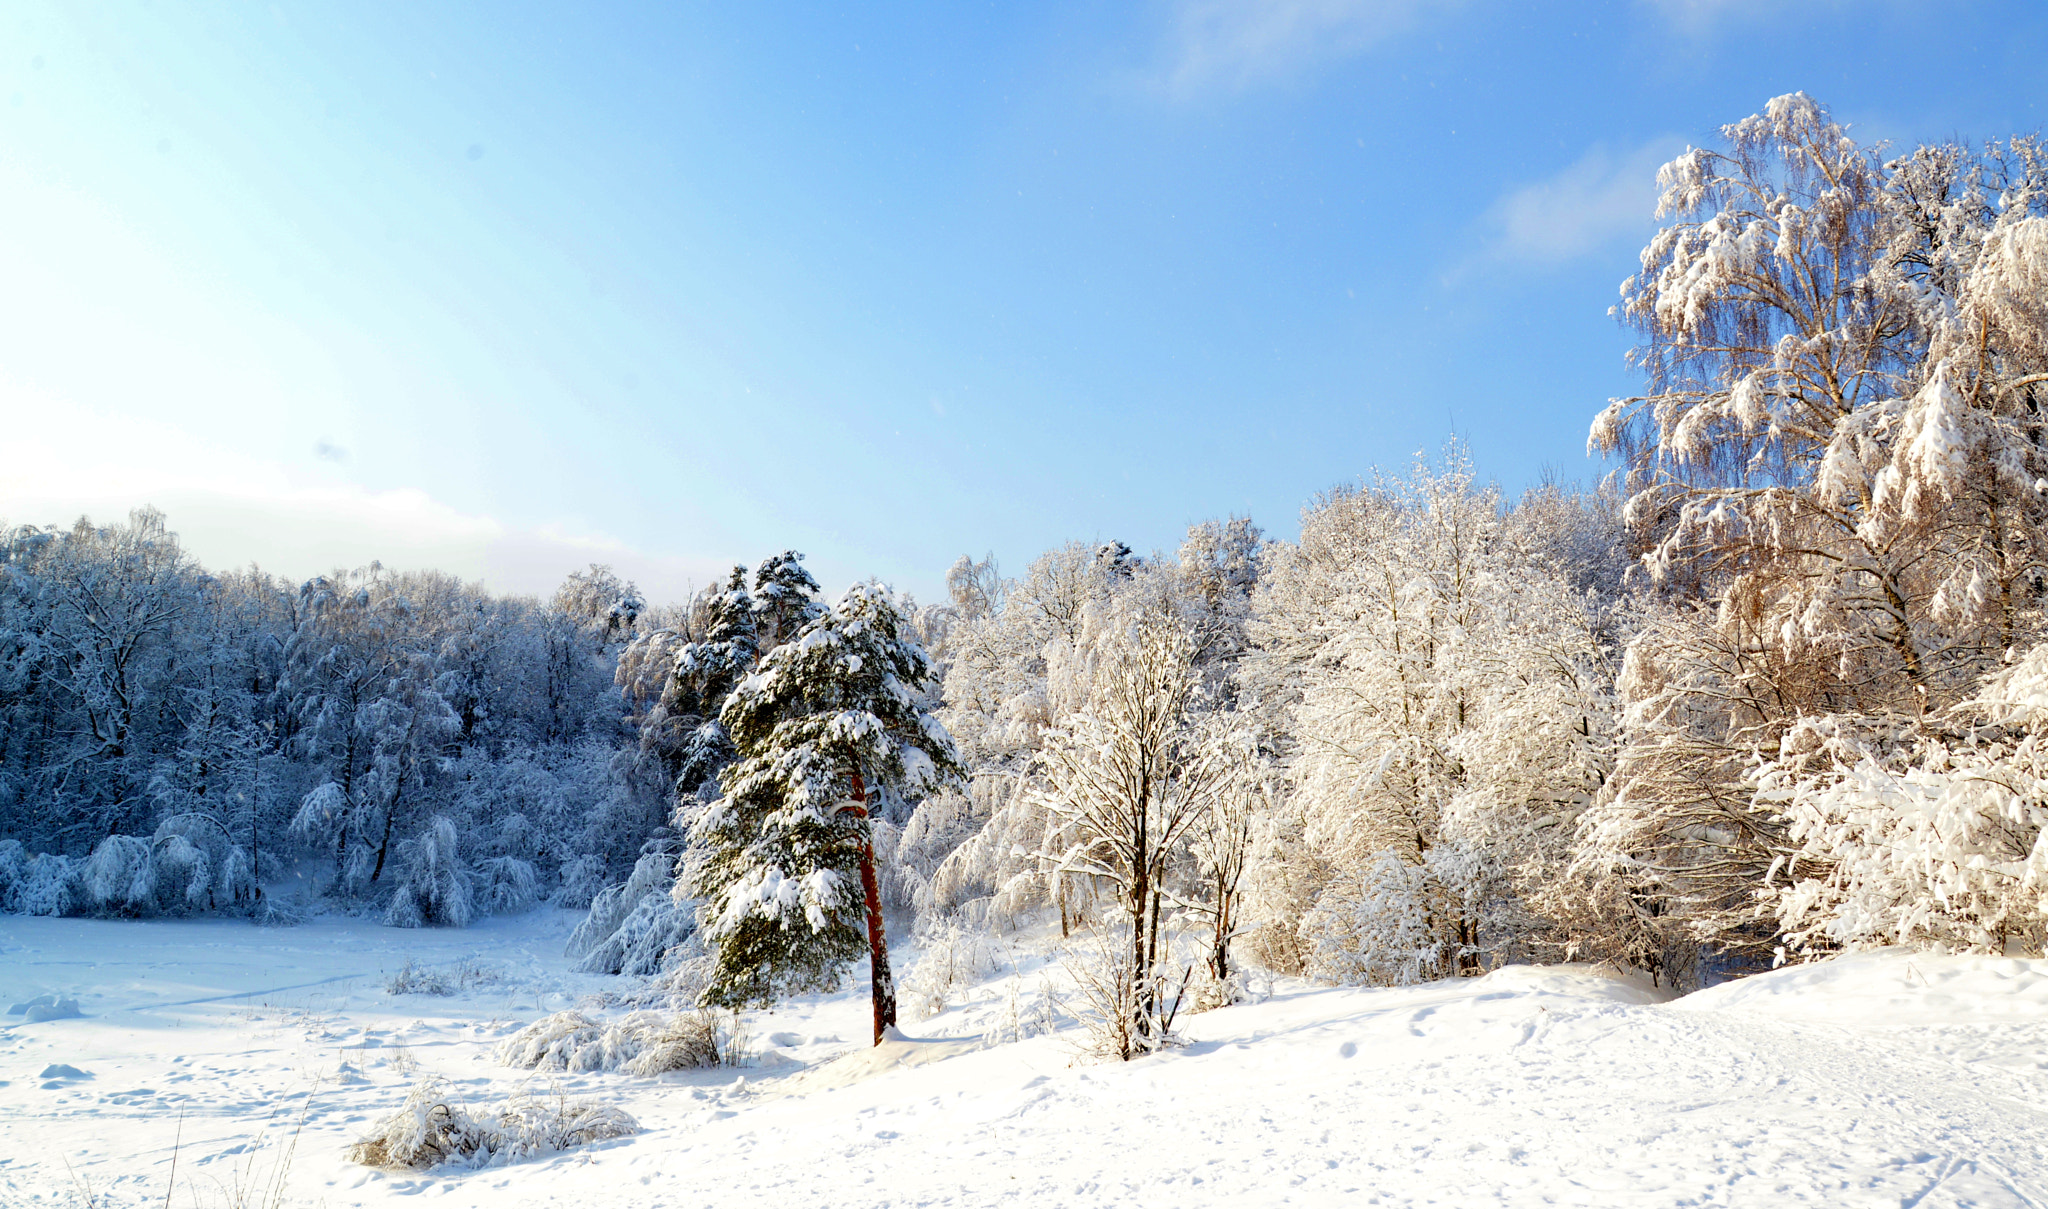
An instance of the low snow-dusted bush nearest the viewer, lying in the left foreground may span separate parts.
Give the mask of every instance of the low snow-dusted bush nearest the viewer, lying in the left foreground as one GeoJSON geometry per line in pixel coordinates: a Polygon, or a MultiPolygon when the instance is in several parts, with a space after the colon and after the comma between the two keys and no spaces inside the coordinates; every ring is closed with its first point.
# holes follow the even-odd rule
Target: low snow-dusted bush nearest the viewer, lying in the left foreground
{"type": "Polygon", "coordinates": [[[625,1111],[563,1094],[520,1094],[496,1111],[449,1102],[438,1078],[422,1080],[406,1104],[348,1150],[373,1168],[428,1170],[459,1162],[485,1166],[639,1133],[625,1111]]]}

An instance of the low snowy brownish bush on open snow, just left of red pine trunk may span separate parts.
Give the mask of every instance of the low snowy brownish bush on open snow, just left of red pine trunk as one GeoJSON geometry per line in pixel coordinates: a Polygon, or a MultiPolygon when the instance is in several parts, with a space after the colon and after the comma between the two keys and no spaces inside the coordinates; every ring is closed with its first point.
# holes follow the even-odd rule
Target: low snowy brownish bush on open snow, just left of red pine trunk
{"type": "Polygon", "coordinates": [[[655,1076],[700,1066],[737,1066],[745,1045],[737,1016],[631,1012],[604,1025],[582,1012],[555,1012],[526,1025],[498,1047],[498,1061],[522,1070],[623,1070],[655,1076]]]}

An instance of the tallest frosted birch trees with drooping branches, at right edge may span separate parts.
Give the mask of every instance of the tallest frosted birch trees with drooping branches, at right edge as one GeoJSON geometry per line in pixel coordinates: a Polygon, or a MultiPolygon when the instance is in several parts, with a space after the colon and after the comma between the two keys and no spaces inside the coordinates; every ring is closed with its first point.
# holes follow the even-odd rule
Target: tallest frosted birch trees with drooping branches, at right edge
{"type": "MultiPolygon", "coordinates": [[[[1630,959],[1767,955],[1776,902],[1808,939],[1866,926],[1806,914],[1835,895],[1808,873],[1849,877],[1798,857],[1821,824],[1786,807],[1821,789],[1792,787],[1831,777],[1810,756],[1855,768],[1843,744],[1915,732],[2044,633],[2048,158],[2036,137],[1888,156],[1792,94],[1659,182],[1669,225],[1620,307],[1649,389],[1591,447],[1626,463],[1665,607],[1628,650],[1626,742],[1554,906],[1630,959]],[[1790,898],[1759,895],[1784,877],[1790,898]]],[[[1950,746],[1886,740],[1921,742],[1950,746]]]]}

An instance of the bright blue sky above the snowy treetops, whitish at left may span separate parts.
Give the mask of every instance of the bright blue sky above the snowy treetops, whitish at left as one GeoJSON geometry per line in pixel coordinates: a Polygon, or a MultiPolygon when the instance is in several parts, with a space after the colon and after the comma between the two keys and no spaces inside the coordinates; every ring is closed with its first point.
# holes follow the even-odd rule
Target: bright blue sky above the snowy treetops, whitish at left
{"type": "Polygon", "coordinates": [[[2042,125],[2048,6],[0,6],[0,518],[655,598],[1595,477],[1653,176],[2042,125]],[[858,10],[856,10],[858,8],[858,10]]]}

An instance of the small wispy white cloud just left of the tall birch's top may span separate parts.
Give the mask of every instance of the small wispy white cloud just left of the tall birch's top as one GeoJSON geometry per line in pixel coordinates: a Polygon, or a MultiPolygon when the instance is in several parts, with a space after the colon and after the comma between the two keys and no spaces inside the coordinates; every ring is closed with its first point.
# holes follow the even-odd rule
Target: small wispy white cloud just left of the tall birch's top
{"type": "Polygon", "coordinates": [[[1485,258],[1561,264],[1647,234],[1657,211],[1657,168],[1683,145],[1677,137],[1624,152],[1595,145],[1554,176],[1507,193],[1487,209],[1485,258]]]}

